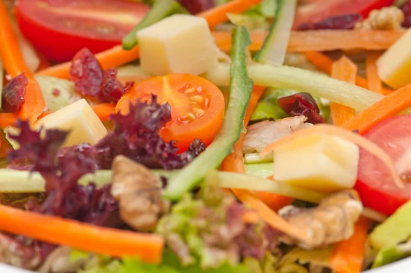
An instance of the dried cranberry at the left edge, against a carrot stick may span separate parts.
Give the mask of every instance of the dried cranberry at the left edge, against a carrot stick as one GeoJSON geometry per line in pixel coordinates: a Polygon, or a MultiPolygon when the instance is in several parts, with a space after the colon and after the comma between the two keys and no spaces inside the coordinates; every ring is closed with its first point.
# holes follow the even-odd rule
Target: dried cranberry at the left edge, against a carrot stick
{"type": "Polygon", "coordinates": [[[27,77],[24,74],[12,78],[1,93],[1,108],[5,112],[18,112],[24,104],[24,96],[27,88],[27,77]]]}

